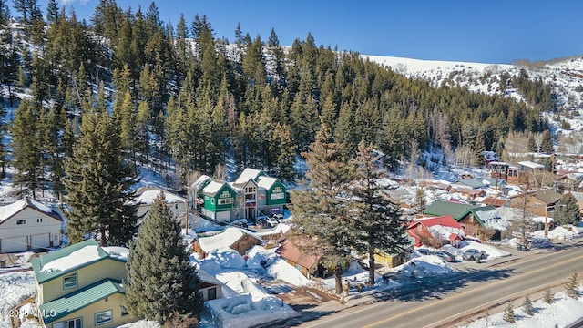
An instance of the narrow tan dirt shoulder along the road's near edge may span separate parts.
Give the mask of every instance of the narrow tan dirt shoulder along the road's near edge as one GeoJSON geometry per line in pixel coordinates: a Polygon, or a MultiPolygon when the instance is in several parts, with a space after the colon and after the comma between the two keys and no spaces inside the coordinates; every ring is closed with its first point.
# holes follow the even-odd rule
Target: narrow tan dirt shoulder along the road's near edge
{"type": "MultiPolygon", "coordinates": [[[[484,313],[488,310],[495,309],[496,307],[502,306],[509,302],[517,301],[519,298],[525,297],[527,295],[532,295],[535,292],[543,292],[547,290],[547,288],[555,288],[558,286],[562,286],[564,282],[556,283],[556,284],[545,284],[545,285],[538,285],[537,287],[533,287],[527,289],[526,291],[515,292],[510,294],[506,297],[499,298],[495,301],[486,302],[485,304],[476,306],[475,308],[465,310],[462,313],[457,313],[452,316],[449,316],[445,319],[442,319],[436,323],[428,324],[424,326],[424,328],[442,328],[442,327],[451,327],[453,323],[459,323],[463,319],[470,319],[475,318],[478,314],[484,313]]],[[[532,301],[536,301],[539,298],[533,299],[532,301]]],[[[581,318],[583,320],[583,318],[581,318]]]]}

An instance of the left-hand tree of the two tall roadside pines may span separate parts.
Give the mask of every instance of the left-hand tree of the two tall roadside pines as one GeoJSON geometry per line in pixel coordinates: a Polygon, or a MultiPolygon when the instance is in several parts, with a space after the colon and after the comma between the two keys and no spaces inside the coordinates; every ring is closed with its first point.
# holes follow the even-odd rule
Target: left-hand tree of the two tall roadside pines
{"type": "Polygon", "coordinates": [[[302,153],[308,164],[308,188],[292,191],[293,234],[301,239],[303,251],[334,268],[338,294],[343,292],[342,264],[350,257],[353,245],[349,209],[343,200],[353,166],[343,161],[339,149],[330,128],[323,125],[310,152],[302,153]]]}

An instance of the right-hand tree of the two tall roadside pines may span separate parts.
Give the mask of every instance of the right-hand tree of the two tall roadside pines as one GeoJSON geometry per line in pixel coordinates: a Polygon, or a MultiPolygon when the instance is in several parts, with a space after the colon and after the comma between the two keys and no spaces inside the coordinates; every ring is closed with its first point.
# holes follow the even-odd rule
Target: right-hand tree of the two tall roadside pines
{"type": "Polygon", "coordinates": [[[374,285],[374,254],[401,253],[410,244],[406,237],[408,220],[398,206],[383,195],[379,185],[384,178],[381,159],[375,156],[372,144],[362,140],[358,146],[356,174],[352,183],[353,200],[353,247],[368,256],[369,285],[374,285]]]}

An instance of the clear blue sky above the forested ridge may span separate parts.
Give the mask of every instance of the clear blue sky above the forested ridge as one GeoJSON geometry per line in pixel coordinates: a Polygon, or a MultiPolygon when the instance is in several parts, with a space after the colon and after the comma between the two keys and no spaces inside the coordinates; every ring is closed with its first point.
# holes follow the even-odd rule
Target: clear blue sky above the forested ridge
{"type": "MultiPolygon", "coordinates": [[[[151,1],[118,0],[146,12],[151,1]]],[[[11,2],[10,2],[11,3],[11,2]]],[[[47,0],[39,0],[44,11],[47,0]]],[[[98,0],[61,0],[89,22],[98,0]]],[[[243,33],[263,41],[275,29],[283,46],[312,33],[316,44],[367,55],[511,63],[583,55],[580,0],[182,0],[157,1],[176,26],[207,15],[215,36],[243,33]]]]}

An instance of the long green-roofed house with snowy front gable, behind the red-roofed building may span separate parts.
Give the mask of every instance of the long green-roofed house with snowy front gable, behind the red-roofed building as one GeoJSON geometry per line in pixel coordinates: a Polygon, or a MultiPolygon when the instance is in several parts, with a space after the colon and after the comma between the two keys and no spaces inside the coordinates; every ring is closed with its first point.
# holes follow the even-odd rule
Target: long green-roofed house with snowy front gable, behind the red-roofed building
{"type": "Polygon", "coordinates": [[[482,241],[500,240],[502,231],[506,231],[509,226],[494,206],[435,200],[424,210],[424,215],[451,215],[464,228],[466,236],[474,236],[482,241]]]}

